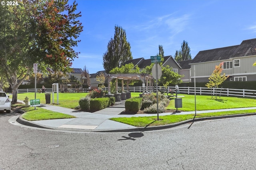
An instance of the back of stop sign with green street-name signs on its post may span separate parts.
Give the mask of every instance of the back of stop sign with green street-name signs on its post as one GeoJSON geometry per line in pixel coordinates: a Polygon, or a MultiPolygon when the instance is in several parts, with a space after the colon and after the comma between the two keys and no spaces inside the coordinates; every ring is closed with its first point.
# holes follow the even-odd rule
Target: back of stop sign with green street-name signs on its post
{"type": "Polygon", "coordinates": [[[161,62],[160,56],[151,56],[151,63],[155,63],[152,68],[152,76],[156,79],[156,108],[157,108],[157,120],[159,120],[159,108],[158,108],[158,79],[162,76],[162,68],[158,64],[161,62]]]}

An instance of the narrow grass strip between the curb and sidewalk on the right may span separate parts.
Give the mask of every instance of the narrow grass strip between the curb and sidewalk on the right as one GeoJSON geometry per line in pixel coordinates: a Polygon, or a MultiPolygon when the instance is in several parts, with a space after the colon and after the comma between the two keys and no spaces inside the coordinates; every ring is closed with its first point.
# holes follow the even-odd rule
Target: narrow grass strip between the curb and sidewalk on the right
{"type": "MultiPolygon", "coordinates": [[[[196,116],[196,118],[222,116],[222,115],[236,115],[236,114],[245,114],[245,113],[256,113],[256,109],[200,113],[196,116]]],[[[194,118],[194,114],[159,116],[159,120],[157,120],[156,116],[114,117],[114,118],[110,118],[110,120],[118,121],[118,122],[125,123],[128,125],[136,126],[136,127],[146,127],[146,126],[168,125],[168,124],[178,123],[178,122],[185,121],[188,119],[193,119],[193,118],[194,118]]]]}

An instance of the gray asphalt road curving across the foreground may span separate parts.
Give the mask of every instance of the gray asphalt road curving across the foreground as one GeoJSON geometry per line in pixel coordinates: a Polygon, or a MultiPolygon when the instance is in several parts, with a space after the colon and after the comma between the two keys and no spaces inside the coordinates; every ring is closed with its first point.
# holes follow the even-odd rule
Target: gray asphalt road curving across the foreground
{"type": "Polygon", "coordinates": [[[162,131],[81,133],[20,127],[0,113],[0,170],[253,170],[256,116],[162,131]]]}

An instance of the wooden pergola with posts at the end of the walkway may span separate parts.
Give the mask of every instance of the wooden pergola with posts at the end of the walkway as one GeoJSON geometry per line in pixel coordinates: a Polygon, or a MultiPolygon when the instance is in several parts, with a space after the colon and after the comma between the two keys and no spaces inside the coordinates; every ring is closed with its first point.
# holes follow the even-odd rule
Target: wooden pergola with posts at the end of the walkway
{"type": "Polygon", "coordinates": [[[126,81],[126,86],[127,86],[127,91],[129,92],[129,83],[132,80],[141,80],[142,83],[146,85],[146,90],[145,86],[143,86],[143,92],[148,93],[149,91],[153,91],[153,80],[154,77],[151,76],[150,74],[107,74],[106,77],[108,78],[108,94],[110,94],[110,82],[113,79],[116,79],[116,93],[118,93],[118,79],[122,80],[122,92],[124,92],[124,80],[126,81]]]}

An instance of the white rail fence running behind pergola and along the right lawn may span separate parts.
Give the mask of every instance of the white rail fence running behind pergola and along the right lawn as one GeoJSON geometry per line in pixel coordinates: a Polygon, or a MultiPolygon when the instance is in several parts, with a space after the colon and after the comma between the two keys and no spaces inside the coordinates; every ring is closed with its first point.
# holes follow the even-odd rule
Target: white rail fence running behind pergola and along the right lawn
{"type": "MultiPolygon", "coordinates": [[[[102,90],[108,90],[108,88],[102,88],[102,90]]],[[[118,87],[118,90],[122,90],[122,87],[118,87]]],[[[124,87],[124,90],[127,90],[124,87]]],[[[158,91],[169,92],[172,90],[175,92],[175,87],[158,87],[158,91]]],[[[181,94],[194,94],[194,87],[179,87],[181,94]]],[[[130,92],[146,92],[146,87],[129,87],[130,92]]],[[[151,90],[148,88],[148,92],[156,92],[156,88],[151,90]]],[[[248,89],[232,89],[232,88],[204,88],[196,87],[197,95],[217,95],[217,96],[237,96],[237,97],[253,97],[256,98],[256,90],[248,89]]]]}

